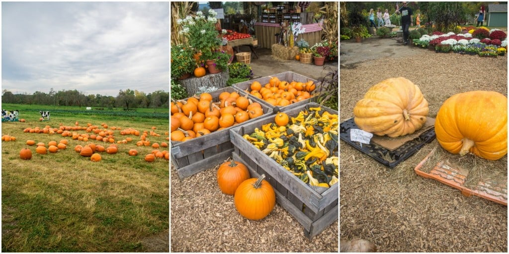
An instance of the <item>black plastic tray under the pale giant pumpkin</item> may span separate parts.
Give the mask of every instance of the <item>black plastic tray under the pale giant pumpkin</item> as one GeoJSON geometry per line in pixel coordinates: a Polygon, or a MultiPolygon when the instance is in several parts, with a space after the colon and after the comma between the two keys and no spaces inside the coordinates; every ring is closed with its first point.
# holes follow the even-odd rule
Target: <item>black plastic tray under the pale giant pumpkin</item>
{"type": "Polygon", "coordinates": [[[340,124],[340,139],[389,168],[394,168],[396,165],[405,161],[422,148],[422,146],[426,143],[430,143],[436,137],[435,128],[431,128],[423,132],[419,137],[391,151],[372,142],[370,144],[362,144],[361,147],[360,143],[350,140],[350,129],[360,129],[357,124],[355,124],[353,117],[340,124]],[[390,158],[390,161],[386,158],[390,158]]]}

